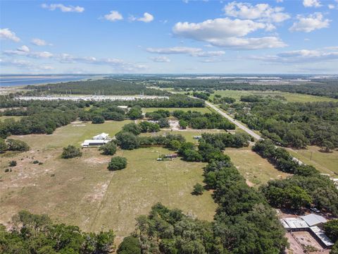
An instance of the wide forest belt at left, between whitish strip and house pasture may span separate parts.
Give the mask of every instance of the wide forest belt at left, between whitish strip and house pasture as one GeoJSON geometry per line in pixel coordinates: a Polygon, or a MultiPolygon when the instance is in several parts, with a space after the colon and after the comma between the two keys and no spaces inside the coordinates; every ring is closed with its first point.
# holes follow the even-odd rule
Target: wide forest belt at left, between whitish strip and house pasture
{"type": "MultiPolygon", "coordinates": [[[[1,114],[6,116],[24,116],[19,121],[6,119],[0,122],[0,138],[9,135],[32,133],[53,133],[56,128],[65,126],[80,117],[82,121],[102,123],[105,120],[122,121],[142,118],[141,107],[205,107],[204,101],[185,95],[173,95],[170,99],[140,100],[134,102],[72,102],[72,101],[18,101],[11,97],[0,97],[1,114]],[[129,105],[129,112],[118,105],[129,105]],[[18,107],[13,109],[13,107],[18,107]],[[85,110],[89,108],[89,110],[85,110]]],[[[162,119],[163,127],[168,124],[162,119]]]]}

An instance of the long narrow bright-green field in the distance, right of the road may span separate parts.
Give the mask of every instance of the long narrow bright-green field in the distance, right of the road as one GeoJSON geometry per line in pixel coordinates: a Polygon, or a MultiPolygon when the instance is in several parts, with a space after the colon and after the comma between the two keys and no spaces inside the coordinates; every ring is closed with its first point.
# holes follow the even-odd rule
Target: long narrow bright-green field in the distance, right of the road
{"type": "MultiPolygon", "coordinates": [[[[242,91],[242,90],[218,90],[213,95],[222,95],[223,97],[233,97],[239,100],[242,95],[262,95],[262,96],[283,96],[288,102],[338,102],[338,99],[320,97],[313,95],[302,95],[292,92],[280,91],[242,91]]],[[[211,95],[211,97],[213,97],[211,95]]]]}

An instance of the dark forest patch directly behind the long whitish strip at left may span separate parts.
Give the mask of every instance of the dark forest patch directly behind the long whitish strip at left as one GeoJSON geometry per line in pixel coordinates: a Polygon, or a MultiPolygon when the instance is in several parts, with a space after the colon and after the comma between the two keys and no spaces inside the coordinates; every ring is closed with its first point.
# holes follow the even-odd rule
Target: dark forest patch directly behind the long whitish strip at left
{"type": "Polygon", "coordinates": [[[72,81],[47,85],[27,85],[27,95],[170,95],[163,90],[152,89],[140,82],[104,78],[100,80],[72,81]]]}

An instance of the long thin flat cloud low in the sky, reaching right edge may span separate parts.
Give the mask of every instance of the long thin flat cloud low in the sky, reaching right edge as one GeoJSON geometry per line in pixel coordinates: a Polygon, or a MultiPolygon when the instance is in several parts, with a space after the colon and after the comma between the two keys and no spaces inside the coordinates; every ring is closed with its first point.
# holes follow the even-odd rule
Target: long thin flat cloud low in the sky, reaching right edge
{"type": "Polygon", "coordinates": [[[301,49],[268,56],[251,56],[250,58],[277,63],[308,63],[338,60],[338,52],[301,49]]]}

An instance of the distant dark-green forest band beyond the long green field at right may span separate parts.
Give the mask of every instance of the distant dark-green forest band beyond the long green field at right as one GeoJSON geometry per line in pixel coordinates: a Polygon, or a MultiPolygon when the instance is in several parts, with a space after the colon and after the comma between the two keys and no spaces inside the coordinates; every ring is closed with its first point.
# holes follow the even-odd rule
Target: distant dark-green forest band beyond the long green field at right
{"type": "Polygon", "coordinates": [[[325,96],[338,99],[338,81],[309,80],[304,84],[289,85],[250,85],[243,80],[242,83],[233,83],[233,79],[167,79],[158,83],[159,87],[174,87],[181,90],[257,90],[257,91],[282,91],[295,92],[305,95],[325,96]]]}

